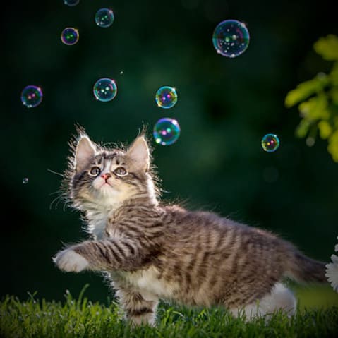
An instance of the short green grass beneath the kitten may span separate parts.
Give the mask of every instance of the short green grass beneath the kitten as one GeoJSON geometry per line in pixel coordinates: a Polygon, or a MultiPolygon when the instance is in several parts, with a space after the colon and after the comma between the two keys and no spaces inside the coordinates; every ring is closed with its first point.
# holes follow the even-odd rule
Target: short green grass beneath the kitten
{"type": "Polygon", "coordinates": [[[66,293],[64,302],[20,301],[6,296],[0,303],[0,337],[338,337],[338,307],[300,308],[289,319],[282,313],[269,322],[244,322],[222,308],[187,309],[161,303],[157,327],[133,328],[121,320],[116,303],[104,306],[66,293]]]}

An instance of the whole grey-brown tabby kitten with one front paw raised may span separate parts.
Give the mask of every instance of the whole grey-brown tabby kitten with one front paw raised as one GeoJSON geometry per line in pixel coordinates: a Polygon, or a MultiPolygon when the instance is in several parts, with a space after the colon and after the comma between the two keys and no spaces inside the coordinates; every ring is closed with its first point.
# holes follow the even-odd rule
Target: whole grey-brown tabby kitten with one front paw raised
{"type": "Polygon", "coordinates": [[[93,143],[80,131],[65,175],[68,197],[92,239],[60,251],[66,272],[106,272],[126,318],[155,323],[159,298],[186,306],[221,305],[248,318],[296,300],[282,283],[327,282],[325,265],[270,232],[159,202],[144,135],[127,150],[93,143]]]}

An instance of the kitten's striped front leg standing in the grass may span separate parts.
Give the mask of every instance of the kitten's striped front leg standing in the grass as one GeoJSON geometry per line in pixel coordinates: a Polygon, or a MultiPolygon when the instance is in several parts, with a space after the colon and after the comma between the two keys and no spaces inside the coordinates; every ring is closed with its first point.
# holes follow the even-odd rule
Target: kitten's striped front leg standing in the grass
{"type": "Polygon", "coordinates": [[[126,319],[133,325],[155,325],[157,297],[145,297],[138,291],[124,287],[116,292],[116,296],[119,297],[126,319]]]}

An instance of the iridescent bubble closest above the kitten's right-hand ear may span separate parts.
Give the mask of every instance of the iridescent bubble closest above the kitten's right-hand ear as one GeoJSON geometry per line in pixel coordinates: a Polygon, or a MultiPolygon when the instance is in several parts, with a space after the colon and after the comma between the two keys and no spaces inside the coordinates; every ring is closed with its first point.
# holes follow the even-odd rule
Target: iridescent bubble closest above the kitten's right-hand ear
{"type": "Polygon", "coordinates": [[[159,145],[172,145],[178,140],[181,133],[179,123],[169,117],[159,119],[154,126],[153,135],[159,145]]]}

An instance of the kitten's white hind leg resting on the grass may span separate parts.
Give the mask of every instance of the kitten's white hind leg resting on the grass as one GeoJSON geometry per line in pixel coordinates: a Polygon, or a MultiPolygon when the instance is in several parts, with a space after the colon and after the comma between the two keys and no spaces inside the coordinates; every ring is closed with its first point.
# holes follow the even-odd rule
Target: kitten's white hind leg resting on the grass
{"type": "Polygon", "coordinates": [[[242,309],[232,308],[230,311],[235,317],[244,313],[246,320],[251,320],[260,316],[269,317],[277,310],[283,310],[287,315],[291,316],[296,313],[296,305],[294,294],[282,283],[277,283],[271,293],[262,297],[260,301],[248,304],[242,309]]]}

